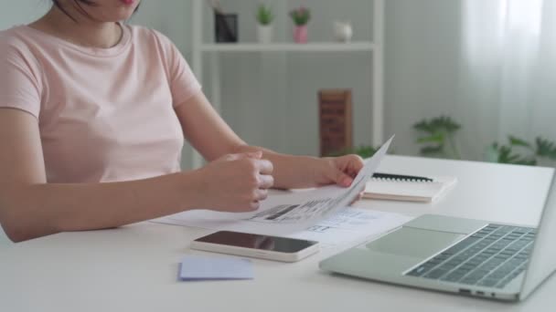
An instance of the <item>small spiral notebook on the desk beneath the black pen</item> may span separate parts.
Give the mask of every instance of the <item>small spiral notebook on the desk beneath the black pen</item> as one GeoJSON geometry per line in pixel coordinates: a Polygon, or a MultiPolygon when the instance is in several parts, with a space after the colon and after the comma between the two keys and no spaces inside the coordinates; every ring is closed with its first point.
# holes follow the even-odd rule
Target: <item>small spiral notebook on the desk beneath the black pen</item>
{"type": "Polygon", "coordinates": [[[363,198],[430,203],[438,200],[457,183],[457,179],[452,176],[428,178],[433,181],[372,178],[367,183],[363,198]]]}

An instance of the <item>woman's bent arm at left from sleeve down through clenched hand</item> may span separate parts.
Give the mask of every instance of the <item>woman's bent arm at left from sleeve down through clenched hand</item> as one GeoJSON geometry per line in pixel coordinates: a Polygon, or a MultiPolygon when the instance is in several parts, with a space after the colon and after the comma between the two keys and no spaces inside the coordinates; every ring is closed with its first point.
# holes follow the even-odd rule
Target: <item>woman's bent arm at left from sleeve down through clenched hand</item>
{"type": "Polygon", "coordinates": [[[37,119],[22,110],[0,109],[0,224],[19,242],[199,207],[251,211],[273,183],[272,165],[257,157],[228,155],[198,171],[134,182],[48,183],[37,119]]]}

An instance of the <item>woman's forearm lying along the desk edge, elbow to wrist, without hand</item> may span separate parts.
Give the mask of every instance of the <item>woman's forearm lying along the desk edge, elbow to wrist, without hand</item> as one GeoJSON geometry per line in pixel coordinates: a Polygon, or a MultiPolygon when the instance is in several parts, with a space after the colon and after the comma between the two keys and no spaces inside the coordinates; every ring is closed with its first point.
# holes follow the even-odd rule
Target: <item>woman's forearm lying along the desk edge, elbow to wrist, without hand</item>
{"type": "Polygon", "coordinates": [[[111,228],[195,207],[196,172],[132,182],[35,184],[0,192],[0,221],[14,241],[111,228]],[[9,191],[9,192],[8,192],[9,191]]]}

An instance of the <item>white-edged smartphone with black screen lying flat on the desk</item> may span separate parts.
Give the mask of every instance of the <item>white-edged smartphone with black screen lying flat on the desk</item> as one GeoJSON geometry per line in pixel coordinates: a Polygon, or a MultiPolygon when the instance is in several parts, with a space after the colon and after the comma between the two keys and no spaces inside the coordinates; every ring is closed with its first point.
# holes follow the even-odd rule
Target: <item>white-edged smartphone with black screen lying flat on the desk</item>
{"type": "Polygon", "coordinates": [[[191,249],[256,258],[295,262],[320,249],[318,242],[297,238],[219,231],[200,237],[191,249]]]}

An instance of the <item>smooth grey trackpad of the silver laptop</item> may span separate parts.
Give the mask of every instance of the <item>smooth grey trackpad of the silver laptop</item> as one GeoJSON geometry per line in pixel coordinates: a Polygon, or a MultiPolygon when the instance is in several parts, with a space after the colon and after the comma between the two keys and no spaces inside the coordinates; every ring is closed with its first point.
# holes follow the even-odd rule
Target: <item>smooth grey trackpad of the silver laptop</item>
{"type": "Polygon", "coordinates": [[[398,231],[367,244],[367,248],[384,254],[426,258],[454,244],[464,236],[464,234],[401,227],[398,231]]]}

